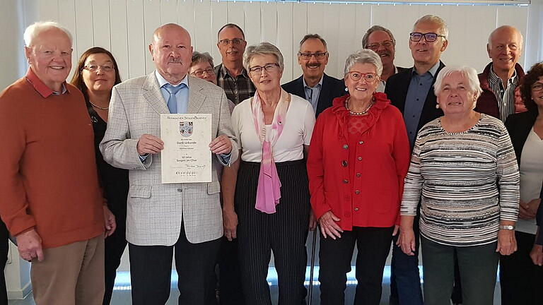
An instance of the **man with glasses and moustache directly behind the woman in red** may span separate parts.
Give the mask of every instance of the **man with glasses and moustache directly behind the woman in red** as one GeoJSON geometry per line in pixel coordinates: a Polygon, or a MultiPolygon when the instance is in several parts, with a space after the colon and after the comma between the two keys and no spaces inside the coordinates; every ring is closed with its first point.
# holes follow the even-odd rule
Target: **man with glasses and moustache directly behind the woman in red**
{"type": "Polygon", "coordinates": [[[394,65],[396,40],[389,29],[383,28],[380,25],[373,25],[373,27],[369,28],[366,34],[364,34],[364,37],[362,37],[362,47],[377,53],[381,59],[381,64],[383,64],[381,82],[377,86],[378,92],[385,91],[385,85],[387,85],[387,79],[390,76],[408,70],[407,68],[394,65]]]}

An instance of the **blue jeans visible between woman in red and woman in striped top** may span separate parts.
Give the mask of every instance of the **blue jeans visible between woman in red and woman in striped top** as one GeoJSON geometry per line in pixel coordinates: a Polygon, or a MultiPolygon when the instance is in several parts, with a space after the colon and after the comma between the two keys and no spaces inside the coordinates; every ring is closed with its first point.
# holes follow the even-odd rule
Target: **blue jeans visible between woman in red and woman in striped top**
{"type": "Polygon", "coordinates": [[[423,305],[421,276],[419,275],[419,215],[413,222],[415,233],[415,255],[408,256],[399,246],[397,234],[392,244],[390,264],[390,305],[423,305]]]}

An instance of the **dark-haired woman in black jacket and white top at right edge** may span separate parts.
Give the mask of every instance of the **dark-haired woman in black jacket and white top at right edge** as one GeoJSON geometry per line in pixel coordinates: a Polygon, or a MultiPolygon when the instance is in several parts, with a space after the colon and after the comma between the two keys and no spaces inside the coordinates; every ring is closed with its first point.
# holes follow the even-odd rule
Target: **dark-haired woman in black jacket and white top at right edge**
{"type": "Polygon", "coordinates": [[[501,304],[532,304],[543,298],[543,267],[530,258],[537,233],[535,216],[543,182],[543,63],[535,64],[520,85],[527,112],[511,114],[506,128],[520,170],[520,203],[515,230],[517,252],[500,258],[501,304]]]}

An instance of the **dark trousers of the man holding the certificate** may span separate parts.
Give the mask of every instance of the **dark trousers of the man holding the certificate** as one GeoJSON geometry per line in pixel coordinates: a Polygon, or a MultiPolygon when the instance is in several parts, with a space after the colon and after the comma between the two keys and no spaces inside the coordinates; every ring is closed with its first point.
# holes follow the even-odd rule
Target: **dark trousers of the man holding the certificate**
{"type": "Polygon", "coordinates": [[[182,305],[216,304],[214,268],[221,239],[191,244],[181,225],[173,246],[136,246],[129,243],[132,304],[160,305],[170,297],[175,249],[177,287],[182,305]]]}

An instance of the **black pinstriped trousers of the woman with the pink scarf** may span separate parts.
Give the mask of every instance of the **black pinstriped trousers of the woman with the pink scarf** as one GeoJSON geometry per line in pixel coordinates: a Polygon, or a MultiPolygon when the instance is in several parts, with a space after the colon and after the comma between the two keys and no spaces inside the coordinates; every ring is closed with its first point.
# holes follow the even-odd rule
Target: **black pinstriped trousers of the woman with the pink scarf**
{"type": "Polygon", "coordinates": [[[305,304],[304,287],[310,215],[305,161],[276,163],[281,200],[276,213],[255,209],[259,163],[241,162],[235,190],[240,272],[245,304],[271,305],[266,280],[271,251],[279,282],[279,304],[305,304]]]}

